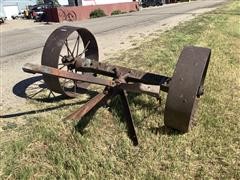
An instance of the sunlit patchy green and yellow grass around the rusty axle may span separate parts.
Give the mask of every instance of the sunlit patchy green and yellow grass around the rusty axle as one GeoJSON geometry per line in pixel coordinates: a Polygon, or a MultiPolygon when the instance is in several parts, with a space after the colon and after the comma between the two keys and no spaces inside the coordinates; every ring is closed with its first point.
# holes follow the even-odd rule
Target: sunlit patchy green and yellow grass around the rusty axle
{"type": "Polygon", "coordinates": [[[146,95],[129,97],[138,147],[127,136],[118,99],[111,103],[112,112],[102,107],[85,117],[90,123],[81,133],[75,123],[64,123],[63,118],[86,97],[29,101],[33,109],[62,107],[25,115],[24,126],[5,127],[0,134],[2,179],[240,179],[239,9],[240,3],[231,1],[216,14],[159,33],[159,38],[109,60],[171,76],[185,45],[211,48],[206,90],[191,132],[170,133],[163,127],[164,105],[146,95]]]}

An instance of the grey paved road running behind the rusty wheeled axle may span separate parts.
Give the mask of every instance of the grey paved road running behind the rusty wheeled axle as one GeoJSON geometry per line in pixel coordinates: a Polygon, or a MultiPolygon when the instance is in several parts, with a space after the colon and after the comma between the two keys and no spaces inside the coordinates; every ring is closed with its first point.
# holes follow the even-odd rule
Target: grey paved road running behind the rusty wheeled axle
{"type": "MultiPolygon", "coordinates": [[[[172,4],[159,8],[147,8],[139,12],[124,14],[120,16],[104,17],[99,19],[63,24],[86,27],[90,29],[95,35],[106,35],[114,31],[149,26],[151,24],[159,23],[169,17],[174,17],[179,14],[187,14],[198,9],[215,7],[221,5],[226,1],[227,0],[206,0],[174,5],[172,4]]],[[[53,24],[21,29],[17,31],[11,30],[2,32],[0,35],[0,57],[16,55],[22,52],[43,47],[49,34],[56,27],[63,24],[53,24]]]]}

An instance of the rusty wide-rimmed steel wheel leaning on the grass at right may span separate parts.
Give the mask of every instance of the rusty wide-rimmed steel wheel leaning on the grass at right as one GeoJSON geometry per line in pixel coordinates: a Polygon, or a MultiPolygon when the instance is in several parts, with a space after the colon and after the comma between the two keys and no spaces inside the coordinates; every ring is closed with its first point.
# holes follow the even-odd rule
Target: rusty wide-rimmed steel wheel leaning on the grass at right
{"type": "Polygon", "coordinates": [[[203,94],[211,50],[185,47],[169,84],[164,124],[181,132],[190,130],[197,100],[203,94]]]}

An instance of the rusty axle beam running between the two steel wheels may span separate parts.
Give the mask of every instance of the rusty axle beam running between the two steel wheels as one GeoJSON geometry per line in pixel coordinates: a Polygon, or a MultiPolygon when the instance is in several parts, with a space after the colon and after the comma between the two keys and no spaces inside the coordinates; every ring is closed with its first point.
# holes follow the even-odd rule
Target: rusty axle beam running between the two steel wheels
{"type": "Polygon", "coordinates": [[[116,71],[125,74],[128,73],[126,81],[128,82],[141,82],[151,85],[164,86],[161,90],[168,91],[168,82],[171,80],[170,77],[162,76],[154,73],[146,73],[122,66],[115,66],[106,63],[100,63],[90,59],[77,58],[75,62],[75,68],[81,72],[92,72],[110,77],[116,77],[116,71]]]}

